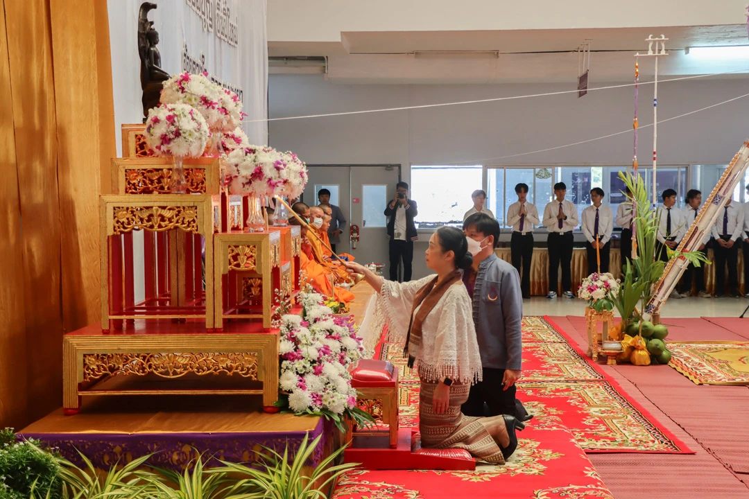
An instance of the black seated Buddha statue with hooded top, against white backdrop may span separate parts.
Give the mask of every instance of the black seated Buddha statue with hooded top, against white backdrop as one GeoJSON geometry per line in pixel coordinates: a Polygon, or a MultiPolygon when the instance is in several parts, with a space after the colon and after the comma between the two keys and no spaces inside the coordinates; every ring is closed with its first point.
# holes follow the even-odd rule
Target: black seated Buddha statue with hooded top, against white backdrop
{"type": "Polygon", "coordinates": [[[144,122],[148,117],[148,110],[159,105],[163,83],[169,79],[169,73],[161,69],[161,54],[156,48],[159,32],[154,29],[154,22],[148,20],[148,12],[155,8],[157,5],[154,2],[144,1],[138,14],[138,54],[141,59],[144,122]]]}

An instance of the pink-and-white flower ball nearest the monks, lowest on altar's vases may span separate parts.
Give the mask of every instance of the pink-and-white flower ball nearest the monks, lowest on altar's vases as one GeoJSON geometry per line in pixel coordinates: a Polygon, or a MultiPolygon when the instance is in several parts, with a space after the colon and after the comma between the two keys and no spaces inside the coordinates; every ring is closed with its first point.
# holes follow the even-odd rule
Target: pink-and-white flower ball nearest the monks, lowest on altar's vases
{"type": "Polygon", "coordinates": [[[291,198],[301,195],[308,178],[306,165],[295,154],[253,145],[226,156],[223,177],[229,194],[291,198]]]}

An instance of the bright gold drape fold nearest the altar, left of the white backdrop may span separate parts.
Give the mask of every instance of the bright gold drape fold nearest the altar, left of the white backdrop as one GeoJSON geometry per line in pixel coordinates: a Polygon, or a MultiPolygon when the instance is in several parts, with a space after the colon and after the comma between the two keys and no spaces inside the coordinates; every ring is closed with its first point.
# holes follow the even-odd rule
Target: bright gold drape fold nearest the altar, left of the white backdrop
{"type": "Polygon", "coordinates": [[[104,68],[97,67],[101,61],[98,48],[105,44],[106,61],[109,61],[106,2],[79,0],[76,8],[71,9],[67,0],[51,0],[49,12],[54,47],[62,222],[62,316],[63,328],[67,332],[97,322],[100,310],[101,172],[109,171],[109,160],[116,156],[114,120],[106,120],[114,115],[112,71],[109,64],[104,68]],[[103,4],[103,9],[99,8],[105,19],[103,30],[100,29],[95,4],[103,4]],[[100,31],[106,34],[103,43],[97,43],[97,32],[100,31]],[[58,75],[73,77],[60,78],[58,75]],[[100,79],[103,79],[101,86],[100,79]],[[100,120],[100,116],[104,119],[100,120]],[[111,123],[111,129],[100,129],[102,123],[104,126],[111,123]],[[99,137],[110,140],[92,140],[99,137]]]}

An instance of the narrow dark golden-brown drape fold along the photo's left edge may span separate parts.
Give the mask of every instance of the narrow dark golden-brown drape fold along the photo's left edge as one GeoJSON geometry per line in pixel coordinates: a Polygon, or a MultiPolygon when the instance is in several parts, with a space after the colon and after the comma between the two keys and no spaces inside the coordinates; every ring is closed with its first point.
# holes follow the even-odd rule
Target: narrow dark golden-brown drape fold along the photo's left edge
{"type": "Polygon", "coordinates": [[[24,273],[11,97],[5,12],[0,9],[0,428],[18,428],[26,420],[24,273]]]}

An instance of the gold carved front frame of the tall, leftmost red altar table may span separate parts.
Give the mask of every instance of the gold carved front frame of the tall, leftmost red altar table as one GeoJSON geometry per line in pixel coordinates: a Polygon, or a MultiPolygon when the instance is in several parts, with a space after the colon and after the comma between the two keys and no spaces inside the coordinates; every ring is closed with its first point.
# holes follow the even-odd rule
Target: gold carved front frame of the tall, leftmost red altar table
{"type": "MultiPolygon", "coordinates": [[[[184,315],[157,316],[110,316],[109,282],[113,280],[110,261],[109,236],[115,236],[130,230],[152,230],[155,232],[169,231],[170,258],[172,269],[172,293],[177,295],[181,303],[180,288],[184,286],[185,277],[178,278],[184,272],[184,266],[179,266],[179,247],[174,243],[178,237],[178,230],[198,233],[206,238],[205,245],[205,280],[213,281],[213,245],[210,237],[213,234],[213,217],[211,216],[210,195],[141,195],[141,196],[102,196],[100,200],[100,275],[101,279],[101,327],[109,331],[110,319],[183,319],[184,315]],[[181,284],[179,284],[181,283],[181,284]]],[[[184,260],[184,255],[182,255],[184,260]]],[[[195,317],[195,316],[189,316],[195,317]]],[[[200,317],[200,316],[198,316],[200,317]]],[[[205,327],[213,329],[213,287],[206,286],[205,290],[205,327]]]]}

